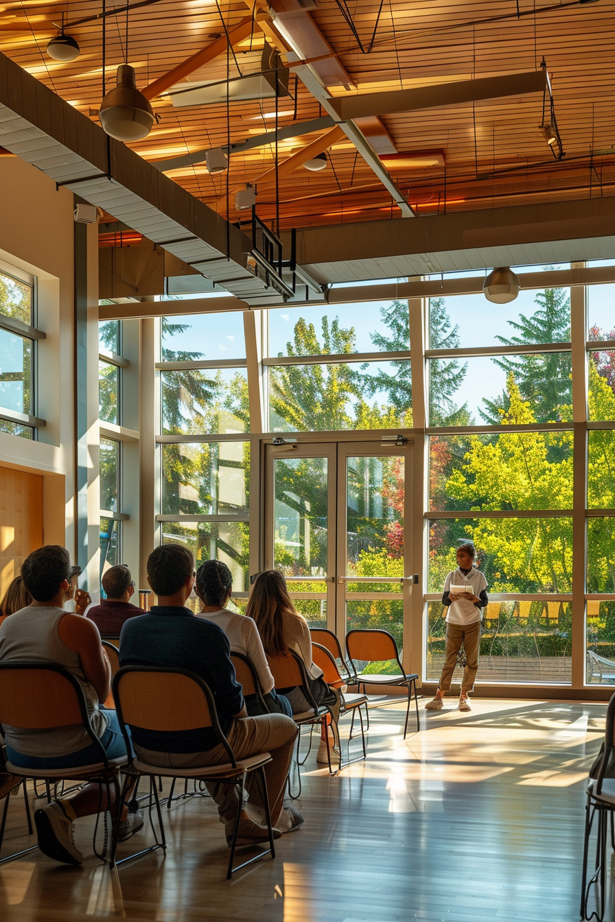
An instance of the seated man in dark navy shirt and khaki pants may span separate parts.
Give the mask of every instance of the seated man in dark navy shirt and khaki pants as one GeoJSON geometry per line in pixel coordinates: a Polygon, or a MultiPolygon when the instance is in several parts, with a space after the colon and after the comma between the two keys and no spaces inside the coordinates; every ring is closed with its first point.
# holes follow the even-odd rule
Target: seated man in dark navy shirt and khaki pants
{"type": "MultiPolygon", "coordinates": [[[[195,618],[184,603],[195,584],[195,561],[181,544],[163,544],[149,555],[148,583],[158,596],[142,618],[126,621],[120,637],[121,666],[164,666],[195,672],[212,691],[218,709],[220,727],[231,743],[237,759],[259,752],[269,752],[272,762],[265,766],[266,784],[271,805],[271,822],[280,833],[299,829],[302,816],[284,808],[284,788],[290,770],[297,726],[290,717],[270,714],[248,717],[242,687],[235,680],[231,648],[226,634],[217,624],[195,618]]],[[[135,751],[150,765],[171,768],[195,768],[224,764],[229,756],[218,742],[211,727],[188,732],[148,733],[133,728],[135,751]]],[[[268,838],[263,824],[265,813],[258,782],[248,775],[247,808],[242,810],[237,843],[253,845],[268,838]]],[[[220,822],[224,823],[227,844],[231,845],[237,815],[237,791],[234,786],[210,786],[218,804],[220,822]]]]}

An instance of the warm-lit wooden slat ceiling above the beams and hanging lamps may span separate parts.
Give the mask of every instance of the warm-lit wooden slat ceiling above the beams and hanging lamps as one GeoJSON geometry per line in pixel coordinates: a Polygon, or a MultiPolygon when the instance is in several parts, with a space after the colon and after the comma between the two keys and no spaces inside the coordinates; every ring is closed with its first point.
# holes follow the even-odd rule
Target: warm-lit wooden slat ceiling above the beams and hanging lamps
{"type": "MultiPolygon", "coordinates": [[[[289,2],[299,6],[296,0],[276,0],[273,6],[280,9],[289,2]]],[[[136,68],[137,86],[143,89],[219,41],[225,30],[263,6],[263,0],[161,0],[150,6],[138,6],[136,0],[136,4],[128,19],[128,61],[136,68]]],[[[107,0],[106,9],[124,5],[124,0],[107,0]]],[[[530,71],[545,58],[566,152],[560,162],[553,159],[538,128],[540,94],[383,114],[382,122],[398,152],[444,151],[444,169],[387,165],[419,215],[615,194],[615,0],[586,4],[564,0],[558,6],[545,0],[384,0],[382,6],[380,0],[318,0],[313,7],[301,15],[313,18],[352,81],[350,89],[331,87],[330,95],[336,97],[530,71]],[[356,34],[341,7],[350,14],[356,34]],[[367,52],[371,41],[372,51],[361,52],[360,42],[367,52]]],[[[57,34],[52,22],[59,22],[63,13],[72,22],[96,17],[101,8],[101,0],[0,0],[0,50],[94,120],[102,97],[101,19],[66,30],[81,50],[73,62],[53,61],[45,46],[57,34]]],[[[124,61],[125,32],[124,13],[106,19],[107,89],[114,83],[116,66],[124,61]]],[[[223,52],[184,79],[198,83],[226,80],[227,73],[231,77],[254,73],[263,42],[264,32],[255,25],[254,34],[236,44],[228,60],[223,52]]],[[[292,96],[295,79],[291,70],[292,96]]],[[[272,130],[276,122],[272,99],[231,100],[229,119],[226,101],[173,108],[171,98],[162,95],[152,105],[159,123],[146,139],[131,145],[149,161],[220,147],[229,140],[240,142],[272,130]]],[[[279,125],[322,114],[301,80],[296,102],[291,97],[278,100],[279,125]]],[[[280,141],[279,161],[316,136],[280,141]]],[[[244,216],[235,211],[235,190],[271,171],[275,153],[274,146],[268,145],[232,154],[227,173],[210,175],[203,162],[168,175],[210,207],[237,220],[244,216]]],[[[299,166],[280,176],[282,229],[399,217],[390,193],[346,137],[338,139],[327,156],[323,171],[309,172],[299,166]]],[[[257,206],[262,219],[276,219],[274,172],[259,185],[257,206]]]]}

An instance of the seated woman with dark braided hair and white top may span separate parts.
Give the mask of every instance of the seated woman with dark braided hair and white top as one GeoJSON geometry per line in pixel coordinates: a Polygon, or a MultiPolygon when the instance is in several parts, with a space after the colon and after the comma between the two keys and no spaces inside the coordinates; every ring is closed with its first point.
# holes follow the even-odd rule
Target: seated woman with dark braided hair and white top
{"type": "MultiPolygon", "coordinates": [[[[290,703],[284,695],[276,694],[273,676],[266,661],[265,650],[252,618],[237,615],[226,608],[231,598],[232,576],[226,563],[205,561],[196,571],[195,593],[203,606],[196,616],[213,621],[225,632],[231,644],[231,653],[242,653],[254,666],[269,714],[292,716],[290,703]]],[[[256,695],[245,695],[248,715],[257,717],[263,710],[256,695]]]]}

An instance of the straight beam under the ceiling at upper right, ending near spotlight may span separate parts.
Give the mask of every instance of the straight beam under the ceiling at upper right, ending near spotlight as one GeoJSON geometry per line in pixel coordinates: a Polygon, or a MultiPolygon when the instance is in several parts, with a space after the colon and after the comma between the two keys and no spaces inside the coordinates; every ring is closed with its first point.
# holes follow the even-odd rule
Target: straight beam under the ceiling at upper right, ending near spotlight
{"type": "Polygon", "coordinates": [[[459,102],[478,102],[503,96],[541,93],[546,86],[547,70],[542,67],[523,74],[506,74],[503,77],[479,77],[477,80],[456,80],[419,89],[394,89],[384,93],[336,97],[330,100],[330,105],[339,118],[346,122],[371,115],[414,112],[418,109],[452,106],[459,102]]]}

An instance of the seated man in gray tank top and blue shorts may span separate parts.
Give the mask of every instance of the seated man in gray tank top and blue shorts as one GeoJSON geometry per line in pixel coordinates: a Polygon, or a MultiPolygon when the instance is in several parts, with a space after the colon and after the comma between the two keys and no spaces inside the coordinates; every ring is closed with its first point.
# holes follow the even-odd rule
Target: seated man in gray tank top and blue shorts
{"type": "MultiPolygon", "coordinates": [[[[124,737],[115,711],[101,710],[109,694],[111,667],[94,624],[65,612],[70,587],[70,557],[57,544],[34,550],[21,566],[23,582],[33,601],[0,626],[0,662],[34,660],[57,663],[71,672],[83,688],[89,720],[107,756],[125,756],[124,737]]],[[[29,768],[73,768],[99,762],[96,747],[82,725],[52,729],[4,727],[6,761],[29,768]]],[[[114,792],[109,808],[113,814],[114,792]]],[[[73,821],[105,810],[105,787],[90,784],[71,797],[57,798],[36,810],[34,822],[39,847],[45,855],[66,864],[81,864],[83,856],[73,840],[73,821]],[[101,800],[101,803],[100,803],[101,800]]],[[[125,841],[143,826],[140,811],[121,818],[119,839],[125,841]]]]}

